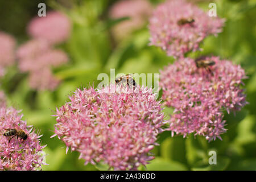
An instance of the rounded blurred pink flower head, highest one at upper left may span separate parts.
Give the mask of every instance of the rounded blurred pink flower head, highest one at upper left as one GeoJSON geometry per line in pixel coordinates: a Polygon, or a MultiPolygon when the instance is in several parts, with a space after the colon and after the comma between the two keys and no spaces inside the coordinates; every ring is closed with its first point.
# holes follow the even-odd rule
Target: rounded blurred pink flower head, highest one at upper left
{"type": "Polygon", "coordinates": [[[45,39],[50,44],[62,43],[68,39],[71,22],[60,12],[51,11],[46,16],[36,17],[28,25],[28,34],[35,39],[45,39]]]}

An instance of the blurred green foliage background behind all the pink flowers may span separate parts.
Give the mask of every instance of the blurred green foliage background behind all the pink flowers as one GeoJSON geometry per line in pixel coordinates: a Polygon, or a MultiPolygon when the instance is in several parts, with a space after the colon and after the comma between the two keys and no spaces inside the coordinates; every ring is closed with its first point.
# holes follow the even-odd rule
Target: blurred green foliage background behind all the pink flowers
{"type": "MultiPolygon", "coordinates": [[[[18,44],[30,39],[27,23],[37,15],[40,0],[0,1],[0,30],[15,36],[18,44]]],[[[58,46],[69,56],[69,63],[54,70],[63,81],[53,91],[36,91],[28,86],[27,75],[19,73],[16,66],[8,69],[1,80],[1,89],[6,93],[8,104],[22,109],[28,125],[34,125],[43,134],[42,144],[48,154],[43,170],[97,170],[84,160],[78,152],[65,154],[65,145],[53,135],[56,118],[55,108],[68,101],[68,96],[77,87],[94,83],[99,73],[159,73],[164,65],[174,59],[167,57],[161,49],[148,46],[149,31],[145,26],[133,31],[121,40],[113,40],[111,29],[118,22],[109,19],[108,11],[117,1],[45,1],[47,11],[60,10],[72,21],[72,34],[67,42],[58,46]]],[[[151,3],[156,6],[158,0],[151,3]]],[[[193,135],[183,139],[171,138],[170,132],[159,136],[152,151],[156,159],[147,165],[148,170],[256,170],[256,1],[223,0],[210,1],[217,4],[217,15],[225,18],[224,31],[218,37],[210,36],[201,44],[203,52],[190,56],[213,54],[222,59],[241,64],[249,77],[245,80],[246,105],[236,115],[225,114],[228,131],[223,140],[208,143],[203,137],[193,135]],[[209,165],[208,152],[217,152],[217,165],[209,165]]],[[[209,1],[195,1],[205,11],[209,1]]],[[[123,20],[125,21],[125,19],[123,20]]],[[[170,109],[164,109],[166,115],[170,109]]],[[[143,169],[143,168],[142,168],[143,169]]]]}

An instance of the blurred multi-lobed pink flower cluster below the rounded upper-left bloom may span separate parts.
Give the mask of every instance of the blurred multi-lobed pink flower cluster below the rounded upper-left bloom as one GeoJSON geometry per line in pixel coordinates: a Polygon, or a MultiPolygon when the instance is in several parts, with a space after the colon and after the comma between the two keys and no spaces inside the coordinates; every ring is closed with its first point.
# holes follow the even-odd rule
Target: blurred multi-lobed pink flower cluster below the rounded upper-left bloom
{"type": "Polygon", "coordinates": [[[29,72],[29,82],[33,89],[54,90],[60,80],[52,74],[51,67],[67,63],[68,56],[60,49],[52,49],[44,39],[33,39],[17,50],[19,69],[29,72]]]}

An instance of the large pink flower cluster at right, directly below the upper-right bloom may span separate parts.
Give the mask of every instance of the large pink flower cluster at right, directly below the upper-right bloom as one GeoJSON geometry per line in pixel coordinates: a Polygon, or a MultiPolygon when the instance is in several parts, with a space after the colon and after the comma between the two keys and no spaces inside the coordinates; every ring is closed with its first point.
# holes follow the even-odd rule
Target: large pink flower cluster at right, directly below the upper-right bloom
{"type": "Polygon", "coordinates": [[[193,59],[180,59],[160,71],[159,86],[163,89],[164,105],[173,107],[170,130],[184,137],[190,133],[207,140],[226,132],[222,121],[225,109],[240,110],[247,102],[240,86],[245,71],[232,61],[207,57],[216,64],[210,69],[197,68],[193,59]]]}

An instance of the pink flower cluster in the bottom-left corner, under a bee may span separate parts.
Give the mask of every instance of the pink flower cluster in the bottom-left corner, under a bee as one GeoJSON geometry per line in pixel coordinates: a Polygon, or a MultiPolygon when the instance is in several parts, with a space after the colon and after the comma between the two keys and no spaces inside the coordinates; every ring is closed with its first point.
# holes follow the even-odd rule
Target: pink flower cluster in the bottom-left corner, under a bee
{"type": "Polygon", "coordinates": [[[22,121],[22,115],[13,107],[0,107],[0,170],[40,170],[43,162],[43,148],[40,146],[40,137],[32,131],[32,126],[27,126],[22,121]],[[30,129],[29,129],[30,128],[30,129]],[[7,129],[23,130],[28,134],[26,140],[14,137],[5,137],[3,134],[7,129]]]}

